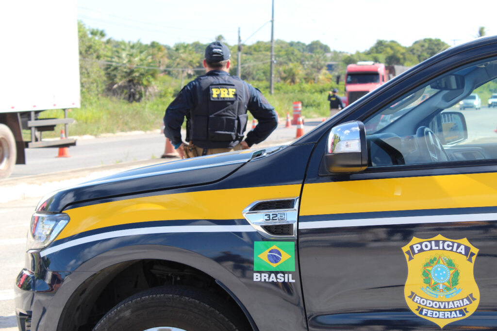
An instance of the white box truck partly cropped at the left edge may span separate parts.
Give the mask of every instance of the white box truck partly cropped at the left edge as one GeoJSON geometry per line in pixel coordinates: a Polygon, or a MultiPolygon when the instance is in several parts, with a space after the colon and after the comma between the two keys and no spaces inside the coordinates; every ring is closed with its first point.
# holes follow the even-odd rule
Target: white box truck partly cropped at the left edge
{"type": "Polygon", "coordinates": [[[69,108],[79,108],[80,72],[75,0],[6,1],[0,4],[0,178],[25,164],[25,148],[67,147],[74,139],[42,141],[43,131],[67,125],[69,108]],[[38,119],[47,109],[64,118],[38,119]],[[31,131],[30,141],[22,129],[31,131]]]}

